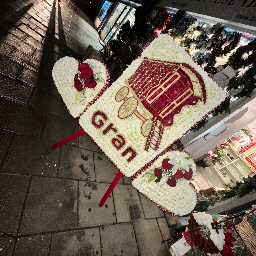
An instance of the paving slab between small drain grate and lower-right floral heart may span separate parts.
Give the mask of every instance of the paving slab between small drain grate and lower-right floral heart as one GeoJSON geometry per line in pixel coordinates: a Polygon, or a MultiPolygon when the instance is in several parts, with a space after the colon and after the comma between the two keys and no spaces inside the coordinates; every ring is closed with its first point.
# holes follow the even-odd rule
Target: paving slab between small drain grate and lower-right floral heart
{"type": "Polygon", "coordinates": [[[143,212],[146,219],[160,218],[164,217],[164,212],[160,210],[156,204],[149,201],[146,196],[139,193],[140,202],[142,204],[143,212]]]}

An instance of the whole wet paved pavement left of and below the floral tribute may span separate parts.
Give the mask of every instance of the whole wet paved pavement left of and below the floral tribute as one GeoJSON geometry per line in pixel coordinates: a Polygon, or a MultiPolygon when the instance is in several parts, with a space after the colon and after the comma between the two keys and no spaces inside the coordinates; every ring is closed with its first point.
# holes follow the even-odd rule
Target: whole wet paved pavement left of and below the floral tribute
{"type": "Polygon", "coordinates": [[[70,0],[4,0],[0,15],[0,256],[170,255],[162,240],[177,220],[131,178],[100,207],[117,170],[88,136],[51,149],[81,129],[52,67],[64,56],[82,60],[89,44],[102,48],[92,21],[70,0]]]}

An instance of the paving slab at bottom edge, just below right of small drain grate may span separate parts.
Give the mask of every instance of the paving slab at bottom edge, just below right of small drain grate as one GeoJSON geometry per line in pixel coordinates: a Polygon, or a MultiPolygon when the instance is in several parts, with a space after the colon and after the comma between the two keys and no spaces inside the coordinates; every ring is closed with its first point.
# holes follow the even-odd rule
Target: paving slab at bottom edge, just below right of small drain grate
{"type": "Polygon", "coordinates": [[[156,219],[133,222],[140,256],[166,256],[156,219]]]}

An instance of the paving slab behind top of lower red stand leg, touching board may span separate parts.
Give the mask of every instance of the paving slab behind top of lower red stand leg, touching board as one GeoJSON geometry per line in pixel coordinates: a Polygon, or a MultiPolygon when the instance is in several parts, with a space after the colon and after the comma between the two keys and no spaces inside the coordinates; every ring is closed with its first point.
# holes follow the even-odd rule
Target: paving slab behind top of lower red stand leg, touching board
{"type": "MultiPolygon", "coordinates": [[[[103,153],[94,153],[94,164],[95,164],[95,174],[96,181],[111,183],[118,170],[111,164],[108,158],[103,153]]],[[[118,184],[122,184],[123,179],[118,181],[118,184]]]]}

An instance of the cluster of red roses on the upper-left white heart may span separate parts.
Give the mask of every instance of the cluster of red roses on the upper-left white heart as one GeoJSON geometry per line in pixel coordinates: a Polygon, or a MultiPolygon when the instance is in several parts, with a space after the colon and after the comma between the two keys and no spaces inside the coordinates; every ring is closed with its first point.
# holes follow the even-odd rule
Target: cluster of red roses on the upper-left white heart
{"type": "Polygon", "coordinates": [[[81,75],[76,74],[74,77],[75,88],[78,92],[82,92],[84,86],[88,88],[94,88],[97,85],[96,81],[93,79],[92,68],[90,68],[87,63],[80,63],[78,65],[78,70],[81,72],[81,75]],[[84,85],[81,83],[79,78],[84,80],[84,85]]]}

